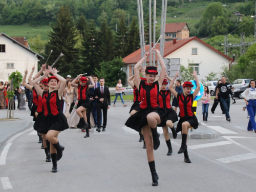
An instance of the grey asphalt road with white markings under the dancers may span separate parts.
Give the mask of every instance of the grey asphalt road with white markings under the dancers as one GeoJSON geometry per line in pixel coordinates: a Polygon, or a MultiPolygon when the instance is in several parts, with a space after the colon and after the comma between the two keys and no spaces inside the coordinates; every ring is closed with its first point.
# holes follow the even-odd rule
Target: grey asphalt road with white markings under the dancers
{"type": "MultiPolygon", "coordinates": [[[[78,129],[60,133],[65,151],[58,161],[58,173],[51,173],[52,163],[45,162],[36,133],[27,129],[9,143],[6,164],[0,165],[0,191],[255,191],[256,134],[247,131],[243,106],[231,105],[231,122],[225,120],[219,106],[215,114],[209,107],[208,123],[202,122],[198,129],[208,126],[218,138],[189,139],[191,164],[177,154],[181,139],[171,139],[174,152],[166,156],[161,135],[160,147],[154,152],[157,187],[151,186],[146,150],[138,142],[138,133],[125,128],[128,107],[109,110],[106,132],[92,129],[89,138],[83,138],[85,133],[78,129]]],[[[200,121],[201,112],[202,106],[198,106],[200,121]]],[[[17,114],[30,118],[29,111],[17,114]]],[[[7,144],[1,146],[0,153],[7,144]]]]}

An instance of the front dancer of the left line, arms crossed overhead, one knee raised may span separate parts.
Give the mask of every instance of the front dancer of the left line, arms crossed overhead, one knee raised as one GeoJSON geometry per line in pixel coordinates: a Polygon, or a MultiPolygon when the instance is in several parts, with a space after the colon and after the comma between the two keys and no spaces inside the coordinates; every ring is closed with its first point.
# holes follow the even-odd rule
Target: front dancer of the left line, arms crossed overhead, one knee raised
{"type": "Polygon", "coordinates": [[[33,81],[37,93],[42,97],[42,104],[44,105],[44,123],[40,128],[40,133],[46,134],[46,139],[51,143],[50,152],[52,157],[52,172],[57,172],[57,161],[62,157],[64,147],[58,142],[58,134],[69,128],[67,118],[60,109],[60,99],[65,89],[66,79],[57,74],[56,69],[48,66],[48,71],[43,77],[38,77],[33,81]],[[48,78],[49,92],[40,89],[36,82],[52,73],[53,76],[48,78]],[[59,82],[60,81],[60,82],[59,82]],[[58,86],[58,83],[59,86],[58,86]]]}

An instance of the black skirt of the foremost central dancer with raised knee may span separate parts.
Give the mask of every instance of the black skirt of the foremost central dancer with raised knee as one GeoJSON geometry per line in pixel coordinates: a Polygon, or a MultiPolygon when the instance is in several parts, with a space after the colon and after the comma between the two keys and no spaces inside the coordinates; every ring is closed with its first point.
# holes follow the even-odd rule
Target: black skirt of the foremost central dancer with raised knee
{"type": "Polygon", "coordinates": [[[156,112],[160,116],[160,119],[165,118],[165,110],[162,108],[159,108],[159,109],[152,109],[152,108],[141,109],[140,108],[140,111],[138,111],[137,113],[135,113],[134,115],[132,115],[127,119],[127,121],[125,122],[125,125],[127,127],[130,127],[131,129],[136,130],[137,132],[141,132],[141,128],[148,124],[146,116],[152,112],[156,112]]]}

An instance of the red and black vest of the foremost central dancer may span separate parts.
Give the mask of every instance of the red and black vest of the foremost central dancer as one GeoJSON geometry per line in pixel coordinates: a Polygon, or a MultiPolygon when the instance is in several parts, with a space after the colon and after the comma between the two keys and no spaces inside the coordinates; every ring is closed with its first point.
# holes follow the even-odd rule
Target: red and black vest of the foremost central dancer
{"type": "Polygon", "coordinates": [[[158,94],[159,94],[159,84],[158,81],[148,84],[145,81],[140,81],[140,103],[141,109],[146,108],[157,108],[158,104],[158,94]]]}

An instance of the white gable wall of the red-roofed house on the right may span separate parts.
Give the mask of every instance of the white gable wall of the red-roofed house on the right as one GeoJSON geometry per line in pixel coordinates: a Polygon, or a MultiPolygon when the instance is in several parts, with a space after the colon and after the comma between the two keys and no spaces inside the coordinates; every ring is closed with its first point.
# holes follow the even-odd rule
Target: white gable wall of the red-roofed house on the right
{"type": "Polygon", "coordinates": [[[165,58],[181,58],[181,65],[185,67],[188,65],[188,59],[190,60],[190,63],[199,63],[198,78],[200,81],[206,80],[206,76],[211,71],[218,73],[217,77],[219,78],[219,72],[222,71],[221,67],[228,67],[229,65],[229,60],[227,58],[204,46],[197,40],[191,40],[180,49],[167,55],[165,58]],[[197,48],[197,55],[192,55],[192,48],[197,48]]]}

